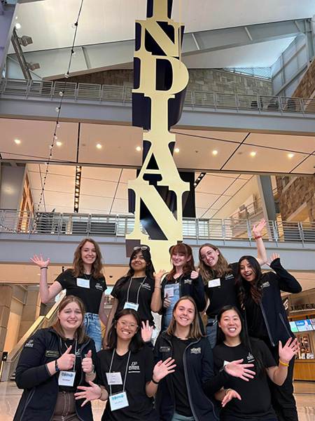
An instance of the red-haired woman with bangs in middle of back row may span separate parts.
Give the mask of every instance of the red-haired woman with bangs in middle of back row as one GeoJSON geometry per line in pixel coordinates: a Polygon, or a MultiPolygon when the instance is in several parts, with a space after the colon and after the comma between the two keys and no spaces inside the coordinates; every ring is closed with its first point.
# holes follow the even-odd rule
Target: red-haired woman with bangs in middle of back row
{"type": "MultiPolygon", "coordinates": [[[[195,300],[198,312],[203,312],[206,307],[204,286],[201,276],[195,271],[192,248],[188,244],[180,243],[173,246],[169,253],[173,267],[162,282],[162,332],[165,332],[169,327],[174,305],[183,295],[188,295],[195,300]]],[[[204,327],[199,313],[198,316],[200,328],[203,332],[204,327]]]]}

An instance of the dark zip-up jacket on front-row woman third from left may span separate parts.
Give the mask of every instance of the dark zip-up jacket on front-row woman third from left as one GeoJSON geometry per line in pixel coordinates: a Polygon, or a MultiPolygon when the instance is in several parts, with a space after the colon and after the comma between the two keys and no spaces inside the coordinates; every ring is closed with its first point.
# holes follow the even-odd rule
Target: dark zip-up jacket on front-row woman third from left
{"type": "MultiPolygon", "coordinates": [[[[171,338],[167,333],[162,333],[158,337],[154,348],[155,363],[165,361],[173,355],[171,338]]],[[[190,342],[183,354],[183,366],[190,409],[195,420],[218,421],[216,403],[207,396],[218,392],[230,376],[225,370],[214,376],[214,356],[207,338],[190,342]]],[[[161,421],[172,420],[175,410],[172,374],[160,380],[158,392],[155,395],[155,409],[161,421]]]]}

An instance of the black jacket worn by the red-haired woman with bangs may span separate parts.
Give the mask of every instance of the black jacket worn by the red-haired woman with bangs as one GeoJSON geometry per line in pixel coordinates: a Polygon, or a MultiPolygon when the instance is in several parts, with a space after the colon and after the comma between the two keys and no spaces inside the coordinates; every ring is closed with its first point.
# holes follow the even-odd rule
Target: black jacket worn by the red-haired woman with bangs
{"type": "MultiPolygon", "coordinates": [[[[161,288],[161,295],[162,295],[162,302],[164,300],[164,290],[167,283],[174,283],[173,280],[167,281],[167,276],[162,281],[162,288],[161,288]]],[[[179,278],[179,298],[188,295],[189,297],[195,300],[198,310],[198,318],[200,322],[200,328],[202,333],[204,333],[204,325],[202,323],[202,319],[200,317],[199,312],[203,312],[204,308],[207,305],[206,298],[204,297],[204,283],[202,282],[202,277],[198,276],[196,279],[191,279],[190,275],[187,276],[180,276],[179,278]]],[[[161,328],[164,327],[164,319],[165,319],[165,312],[166,308],[163,307],[160,309],[160,314],[162,314],[161,319],[161,328]]]]}

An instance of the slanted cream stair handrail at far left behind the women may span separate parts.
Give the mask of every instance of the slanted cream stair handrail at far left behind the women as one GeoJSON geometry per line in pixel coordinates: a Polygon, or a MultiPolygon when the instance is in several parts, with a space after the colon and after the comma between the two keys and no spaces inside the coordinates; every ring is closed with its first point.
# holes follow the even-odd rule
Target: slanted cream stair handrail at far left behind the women
{"type": "Polygon", "coordinates": [[[18,341],[15,347],[10,351],[10,353],[8,354],[8,359],[3,363],[1,382],[6,382],[10,379],[16,366],[18,365],[18,359],[20,357],[25,342],[31,335],[34,335],[34,333],[37,332],[38,329],[41,329],[42,327],[44,327],[44,325],[48,325],[52,321],[53,317],[57,313],[59,304],[64,298],[64,296],[64,293],[60,294],[59,299],[52,306],[48,314],[46,314],[46,316],[39,316],[38,319],[36,319],[36,321],[34,321],[34,323],[31,325],[29,330],[27,330],[27,332],[18,341]]]}

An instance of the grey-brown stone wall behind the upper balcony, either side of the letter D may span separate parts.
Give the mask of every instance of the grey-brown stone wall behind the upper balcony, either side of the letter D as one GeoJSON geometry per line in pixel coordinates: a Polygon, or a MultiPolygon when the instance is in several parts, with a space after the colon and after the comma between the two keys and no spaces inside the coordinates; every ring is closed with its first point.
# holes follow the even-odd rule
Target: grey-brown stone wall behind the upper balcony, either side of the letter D
{"type": "MultiPolygon", "coordinates": [[[[189,69],[189,91],[272,95],[271,81],[232,72],[211,69],[189,69]]],[[[100,85],[132,86],[133,70],[106,70],[70,77],[71,82],[100,85]]]]}

